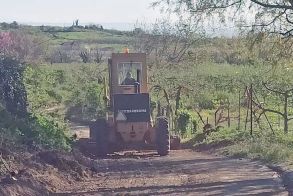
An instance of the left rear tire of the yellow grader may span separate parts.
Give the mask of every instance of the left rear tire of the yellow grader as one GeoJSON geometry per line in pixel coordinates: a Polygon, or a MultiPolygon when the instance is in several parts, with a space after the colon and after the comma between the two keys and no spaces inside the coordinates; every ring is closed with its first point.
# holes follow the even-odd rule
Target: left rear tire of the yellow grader
{"type": "Polygon", "coordinates": [[[96,142],[98,156],[106,156],[109,153],[108,135],[108,125],[105,119],[98,119],[90,126],[90,136],[96,142]]]}

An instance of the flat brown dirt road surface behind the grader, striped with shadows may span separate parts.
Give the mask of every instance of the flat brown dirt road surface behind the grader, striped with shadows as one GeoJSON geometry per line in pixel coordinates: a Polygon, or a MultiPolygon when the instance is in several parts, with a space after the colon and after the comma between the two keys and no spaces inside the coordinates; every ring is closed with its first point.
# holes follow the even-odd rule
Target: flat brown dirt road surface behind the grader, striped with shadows
{"type": "Polygon", "coordinates": [[[288,195],[265,166],[191,150],[117,155],[96,164],[93,177],[56,195],[288,195]]]}

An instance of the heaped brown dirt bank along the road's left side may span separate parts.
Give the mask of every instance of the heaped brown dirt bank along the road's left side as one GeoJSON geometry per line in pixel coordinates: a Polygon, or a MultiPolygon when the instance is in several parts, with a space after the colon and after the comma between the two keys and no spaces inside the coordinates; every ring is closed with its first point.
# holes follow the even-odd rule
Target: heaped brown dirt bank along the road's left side
{"type": "Polygon", "coordinates": [[[49,195],[94,171],[94,161],[78,150],[21,153],[1,148],[0,157],[0,195],[49,195]]]}

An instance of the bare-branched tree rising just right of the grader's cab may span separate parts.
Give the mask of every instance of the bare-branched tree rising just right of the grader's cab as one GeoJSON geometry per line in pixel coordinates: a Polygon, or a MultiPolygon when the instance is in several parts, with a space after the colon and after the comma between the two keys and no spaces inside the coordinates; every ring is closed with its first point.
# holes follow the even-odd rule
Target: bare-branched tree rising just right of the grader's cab
{"type": "Polygon", "coordinates": [[[150,83],[156,101],[164,110],[158,113],[164,113],[169,118],[170,127],[176,128],[181,98],[191,83],[186,78],[179,78],[178,71],[189,68],[194,46],[203,41],[205,33],[191,18],[182,17],[175,23],[169,18],[158,20],[151,28],[141,25],[133,34],[135,50],[148,54],[150,83]]]}

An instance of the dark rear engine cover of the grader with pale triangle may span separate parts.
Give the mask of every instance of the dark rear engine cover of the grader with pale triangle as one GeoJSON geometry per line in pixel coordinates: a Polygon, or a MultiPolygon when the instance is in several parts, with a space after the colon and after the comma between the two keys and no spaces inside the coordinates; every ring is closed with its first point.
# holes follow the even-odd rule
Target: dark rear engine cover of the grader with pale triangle
{"type": "Polygon", "coordinates": [[[149,122],[149,94],[115,94],[114,114],[116,121],[149,122]]]}

